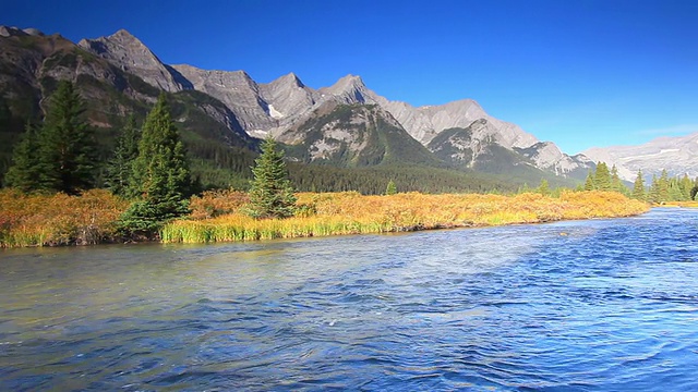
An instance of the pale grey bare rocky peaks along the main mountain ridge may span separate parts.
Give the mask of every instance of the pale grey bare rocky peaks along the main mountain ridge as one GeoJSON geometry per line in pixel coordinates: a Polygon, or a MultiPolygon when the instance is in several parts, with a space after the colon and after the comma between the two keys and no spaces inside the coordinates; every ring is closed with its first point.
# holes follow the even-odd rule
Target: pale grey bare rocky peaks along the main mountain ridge
{"type": "MultiPolygon", "coordinates": [[[[268,84],[258,84],[244,71],[207,71],[191,65],[166,65],[125,30],[119,30],[109,37],[82,40],[81,46],[95,54],[128,70],[144,82],[169,91],[194,89],[205,93],[224,102],[234,114],[240,125],[251,136],[270,135],[279,140],[292,140],[297,145],[306,145],[299,136],[299,125],[312,120],[314,113],[327,102],[333,105],[377,105],[389,113],[412,138],[432,151],[448,149],[430,143],[440,133],[450,128],[470,128],[471,144],[497,145],[506,150],[510,164],[533,164],[535,168],[561,176],[582,177],[593,164],[583,157],[569,157],[552,143],[539,143],[534,136],[524,132],[518,125],[501,121],[485,113],[471,99],[464,99],[442,106],[414,108],[408,103],[390,101],[369,89],[360,76],[347,75],[329,87],[317,90],[305,86],[294,74],[288,74],[268,84]],[[483,120],[486,126],[471,126],[483,120]],[[288,132],[293,130],[293,137],[288,132]],[[510,157],[509,157],[510,156],[510,157]],[[514,163],[515,162],[515,163],[514,163]],[[524,163],[525,162],[525,163],[524,163]]],[[[351,126],[336,123],[337,132],[350,132],[351,126]]],[[[306,130],[308,131],[308,130],[306,130]]],[[[309,137],[315,137],[310,135],[309,137]]],[[[450,143],[452,138],[440,138],[450,143]]],[[[316,142],[316,140],[315,140],[316,142]]],[[[360,145],[348,144],[352,149],[360,145]]],[[[462,146],[452,146],[461,148],[462,146]]],[[[464,168],[498,168],[508,172],[510,164],[498,164],[497,157],[478,154],[471,160],[486,159],[480,162],[458,162],[464,168]],[[494,163],[494,164],[493,164],[494,163]]],[[[489,149],[489,151],[492,149],[489,149]]],[[[359,151],[352,151],[352,154],[359,151]]],[[[503,163],[503,162],[500,162],[503,163]]]]}

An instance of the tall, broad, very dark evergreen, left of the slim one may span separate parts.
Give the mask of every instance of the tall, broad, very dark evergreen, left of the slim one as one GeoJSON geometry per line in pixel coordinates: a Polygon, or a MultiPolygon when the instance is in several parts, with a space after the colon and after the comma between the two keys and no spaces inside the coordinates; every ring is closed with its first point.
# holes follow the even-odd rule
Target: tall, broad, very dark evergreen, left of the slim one
{"type": "Polygon", "coordinates": [[[73,84],[59,82],[40,131],[40,189],[74,195],[94,184],[95,143],[84,111],[73,84]]]}

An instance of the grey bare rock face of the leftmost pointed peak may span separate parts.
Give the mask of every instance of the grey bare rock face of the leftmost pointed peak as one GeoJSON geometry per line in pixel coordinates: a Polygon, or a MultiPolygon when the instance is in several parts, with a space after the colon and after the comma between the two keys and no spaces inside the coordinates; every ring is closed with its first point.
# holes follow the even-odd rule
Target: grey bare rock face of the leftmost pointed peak
{"type": "Polygon", "coordinates": [[[83,39],[77,46],[108,60],[125,72],[140,76],[145,83],[166,91],[185,88],[141,40],[120,29],[108,37],[83,39]]]}

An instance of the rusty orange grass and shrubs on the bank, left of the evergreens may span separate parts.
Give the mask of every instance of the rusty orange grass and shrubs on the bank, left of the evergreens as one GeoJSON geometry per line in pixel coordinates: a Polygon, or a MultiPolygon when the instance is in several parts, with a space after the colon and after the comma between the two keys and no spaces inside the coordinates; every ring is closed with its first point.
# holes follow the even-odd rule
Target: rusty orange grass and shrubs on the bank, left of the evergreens
{"type": "Polygon", "coordinates": [[[115,235],[128,203],[108,191],[81,196],[0,191],[0,247],[97,244],[115,235]]]}

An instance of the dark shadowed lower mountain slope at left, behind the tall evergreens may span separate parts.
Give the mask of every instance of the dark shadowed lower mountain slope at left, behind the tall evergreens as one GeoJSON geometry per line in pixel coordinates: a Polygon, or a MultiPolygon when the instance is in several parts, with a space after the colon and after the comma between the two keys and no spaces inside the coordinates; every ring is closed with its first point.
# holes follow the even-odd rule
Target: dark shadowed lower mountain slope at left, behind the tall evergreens
{"type": "MultiPolygon", "coordinates": [[[[120,41],[137,47],[137,42],[123,38],[124,33],[118,36],[121,40],[109,41],[112,53],[116,53],[120,41]]],[[[139,52],[146,58],[152,54],[143,47],[139,52]]],[[[133,69],[124,71],[128,59],[124,57],[119,62],[111,56],[97,56],[92,49],[86,50],[59,34],[44,35],[34,29],[0,27],[0,176],[11,162],[12,146],[19,140],[26,121],[40,118],[47,98],[60,79],[72,81],[84,98],[85,115],[97,134],[99,149],[96,154],[106,160],[111,154],[116,131],[125,117],[134,114],[142,121],[163,93],[153,84],[166,85],[159,76],[152,78],[153,84],[149,84],[130,72],[133,69]]],[[[153,60],[149,64],[156,66],[157,62],[153,60]]],[[[137,70],[142,72],[143,68],[137,70]]],[[[188,142],[194,157],[209,160],[218,157],[219,160],[231,161],[234,159],[229,156],[236,155],[246,162],[239,166],[250,166],[252,154],[248,147],[256,142],[225,103],[193,89],[167,94],[172,118],[180,124],[182,138],[188,142]]]]}

